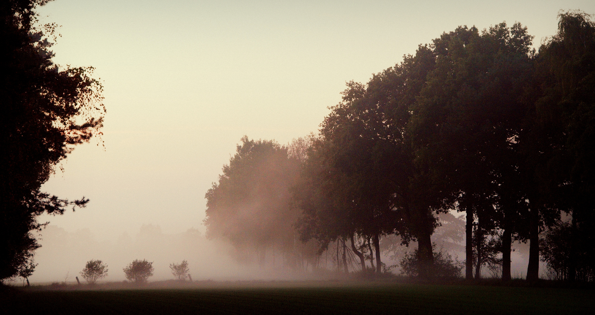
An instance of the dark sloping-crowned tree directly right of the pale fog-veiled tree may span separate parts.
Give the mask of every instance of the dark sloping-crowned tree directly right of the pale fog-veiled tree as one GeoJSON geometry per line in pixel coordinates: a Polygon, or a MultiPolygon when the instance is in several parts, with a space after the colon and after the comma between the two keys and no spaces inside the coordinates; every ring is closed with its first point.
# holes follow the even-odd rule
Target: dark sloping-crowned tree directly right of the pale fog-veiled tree
{"type": "Polygon", "coordinates": [[[412,235],[422,240],[423,257],[431,260],[427,252],[436,220],[428,207],[417,207],[428,196],[412,185],[414,156],[405,130],[409,106],[433,63],[431,51],[420,46],[415,56],[375,74],[366,85],[347,83],[343,102],[330,108],[306,163],[308,188],[300,190],[311,196],[300,198],[303,238],[328,242],[357,233],[372,239],[381,272],[380,235],[401,235],[404,242],[412,235]]]}

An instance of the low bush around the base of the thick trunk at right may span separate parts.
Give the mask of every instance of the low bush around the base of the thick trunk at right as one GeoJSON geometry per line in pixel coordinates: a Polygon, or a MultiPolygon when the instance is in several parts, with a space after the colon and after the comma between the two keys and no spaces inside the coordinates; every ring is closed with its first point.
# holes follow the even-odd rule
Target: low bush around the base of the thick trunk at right
{"type": "MultiPolygon", "coordinates": [[[[433,248],[436,244],[433,245],[433,248]]],[[[432,268],[432,274],[435,278],[459,278],[461,276],[461,270],[465,266],[464,262],[452,259],[449,253],[440,251],[433,251],[434,265],[432,268]]],[[[419,258],[417,249],[411,253],[406,253],[401,259],[399,266],[401,267],[401,274],[408,276],[419,275],[419,258]]]]}

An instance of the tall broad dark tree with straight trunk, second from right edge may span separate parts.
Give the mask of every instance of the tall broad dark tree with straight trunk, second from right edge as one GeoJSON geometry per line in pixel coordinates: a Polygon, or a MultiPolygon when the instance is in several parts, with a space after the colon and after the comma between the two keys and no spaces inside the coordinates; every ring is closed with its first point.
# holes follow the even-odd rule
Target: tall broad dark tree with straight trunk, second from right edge
{"type": "MultiPolygon", "coordinates": [[[[409,133],[419,165],[445,203],[467,213],[466,278],[472,278],[472,222],[495,226],[493,201],[502,157],[515,150],[533,37],[515,23],[480,32],[458,27],[434,40],[436,68],[412,106],[409,133]],[[455,199],[456,197],[456,199],[455,199]]],[[[481,236],[481,235],[480,235],[481,236]]]]}

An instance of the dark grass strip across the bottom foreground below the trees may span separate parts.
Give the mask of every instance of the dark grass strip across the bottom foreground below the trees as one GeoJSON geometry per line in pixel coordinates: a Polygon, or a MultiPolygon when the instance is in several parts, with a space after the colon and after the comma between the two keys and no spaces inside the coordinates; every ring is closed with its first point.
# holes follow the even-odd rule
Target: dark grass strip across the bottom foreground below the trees
{"type": "Polygon", "coordinates": [[[595,314],[595,292],[396,284],[0,292],[6,314],[595,314]]]}

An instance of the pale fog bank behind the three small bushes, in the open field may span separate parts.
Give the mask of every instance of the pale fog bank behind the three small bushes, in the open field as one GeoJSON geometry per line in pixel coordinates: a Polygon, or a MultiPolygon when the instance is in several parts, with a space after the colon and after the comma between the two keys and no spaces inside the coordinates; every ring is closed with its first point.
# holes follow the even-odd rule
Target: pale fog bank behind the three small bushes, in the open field
{"type": "MultiPolygon", "coordinates": [[[[122,232],[114,238],[98,238],[89,229],[66,231],[49,225],[40,232],[42,248],[37,250],[39,263],[32,282],[73,282],[90,259],[108,264],[103,281],[126,279],[123,267],[135,259],[153,262],[154,276],[149,281],[173,279],[170,263],[187,260],[193,279],[226,281],[231,279],[270,279],[273,275],[258,266],[239,264],[230,259],[230,247],[208,241],[198,229],[164,234],[157,225],[143,225],[136,234],[122,232]]],[[[278,275],[282,279],[282,275],[278,275]]]]}

